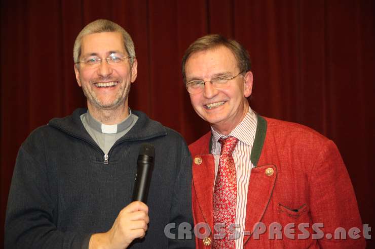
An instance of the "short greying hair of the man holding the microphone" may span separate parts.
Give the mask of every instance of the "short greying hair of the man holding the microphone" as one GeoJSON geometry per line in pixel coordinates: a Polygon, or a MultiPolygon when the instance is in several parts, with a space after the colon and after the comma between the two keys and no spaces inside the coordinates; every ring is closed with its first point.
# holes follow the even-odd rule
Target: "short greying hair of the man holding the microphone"
{"type": "Polygon", "coordinates": [[[128,53],[128,56],[131,57],[130,65],[133,65],[135,58],[135,48],[134,43],[128,32],[125,31],[120,25],[111,22],[109,20],[98,19],[87,24],[81,32],[78,34],[76,41],[74,41],[73,47],[73,60],[74,63],[77,63],[81,56],[81,46],[82,38],[85,35],[94,34],[94,33],[103,33],[103,32],[119,32],[122,35],[124,48],[128,53]]]}

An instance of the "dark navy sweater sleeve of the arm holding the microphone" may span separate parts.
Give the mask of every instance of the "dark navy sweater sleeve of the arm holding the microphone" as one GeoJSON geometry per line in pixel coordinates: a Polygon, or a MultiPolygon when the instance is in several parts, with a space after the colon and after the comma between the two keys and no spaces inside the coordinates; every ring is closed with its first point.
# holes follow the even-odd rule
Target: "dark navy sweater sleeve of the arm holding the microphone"
{"type": "MultiPolygon", "coordinates": [[[[43,146],[43,145],[42,145],[43,146]]],[[[43,156],[18,152],[9,192],[5,248],[87,248],[90,234],[59,231],[43,156]]]]}

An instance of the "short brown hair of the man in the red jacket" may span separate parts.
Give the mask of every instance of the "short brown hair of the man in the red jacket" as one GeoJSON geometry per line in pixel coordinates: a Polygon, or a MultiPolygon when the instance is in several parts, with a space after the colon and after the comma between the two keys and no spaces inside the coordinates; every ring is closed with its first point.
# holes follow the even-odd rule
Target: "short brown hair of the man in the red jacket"
{"type": "Polygon", "coordinates": [[[189,48],[186,49],[185,54],[182,58],[182,79],[186,84],[185,64],[189,57],[197,52],[207,51],[209,49],[216,48],[218,46],[225,46],[230,49],[237,60],[237,66],[241,72],[248,72],[251,70],[251,62],[249,53],[246,49],[237,41],[227,39],[226,37],[219,34],[205,35],[196,41],[194,41],[189,48]]]}

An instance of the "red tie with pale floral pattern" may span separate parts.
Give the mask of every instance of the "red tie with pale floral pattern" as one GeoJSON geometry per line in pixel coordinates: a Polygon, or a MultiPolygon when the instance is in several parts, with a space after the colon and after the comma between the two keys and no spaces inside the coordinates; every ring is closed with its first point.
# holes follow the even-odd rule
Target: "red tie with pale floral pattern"
{"type": "Polygon", "coordinates": [[[236,221],[237,203],[237,176],[232,153],[238,139],[229,136],[219,139],[221,143],[219,168],[216,175],[215,188],[213,190],[213,219],[214,224],[221,223],[220,231],[216,236],[225,237],[214,239],[214,249],[236,248],[235,240],[230,239],[230,225],[236,221]]]}

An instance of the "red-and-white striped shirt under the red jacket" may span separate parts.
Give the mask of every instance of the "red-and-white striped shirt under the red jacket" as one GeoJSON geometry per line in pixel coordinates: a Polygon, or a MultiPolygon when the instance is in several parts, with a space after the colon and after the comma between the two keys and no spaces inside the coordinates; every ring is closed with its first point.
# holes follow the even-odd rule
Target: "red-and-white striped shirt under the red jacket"
{"type": "Polygon", "coordinates": [[[221,143],[218,142],[219,138],[226,138],[234,136],[238,139],[237,145],[233,151],[233,159],[236,165],[237,175],[237,205],[236,205],[236,224],[239,227],[236,231],[240,232],[240,237],[236,239],[236,249],[243,248],[243,236],[245,230],[245,217],[246,217],[246,202],[247,191],[249,187],[250,172],[254,165],[250,161],[251,149],[254,143],[256,131],[256,114],[249,108],[248,113],[244,119],[231,131],[227,136],[224,136],[212,127],[212,150],[215,158],[215,179],[217,170],[219,168],[219,157],[221,150],[221,143]]]}

